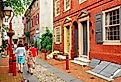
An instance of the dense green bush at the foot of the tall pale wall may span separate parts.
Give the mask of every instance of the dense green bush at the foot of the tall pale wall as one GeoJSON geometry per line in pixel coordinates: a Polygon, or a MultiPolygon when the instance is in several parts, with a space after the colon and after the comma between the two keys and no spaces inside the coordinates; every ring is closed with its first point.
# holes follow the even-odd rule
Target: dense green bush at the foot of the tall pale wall
{"type": "Polygon", "coordinates": [[[52,33],[47,27],[46,27],[46,32],[42,34],[40,44],[41,44],[41,50],[52,49],[52,33]]]}

